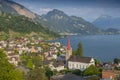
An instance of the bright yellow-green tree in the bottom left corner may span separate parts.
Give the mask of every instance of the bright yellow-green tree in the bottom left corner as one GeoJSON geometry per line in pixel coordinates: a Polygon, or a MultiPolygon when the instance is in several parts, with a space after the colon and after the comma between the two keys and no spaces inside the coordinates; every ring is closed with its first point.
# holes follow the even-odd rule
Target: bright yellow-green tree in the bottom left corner
{"type": "Polygon", "coordinates": [[[22,73],[15,70],[6,58],[3,50],[0,49],[0,80],[24,80],[22,73]]]}

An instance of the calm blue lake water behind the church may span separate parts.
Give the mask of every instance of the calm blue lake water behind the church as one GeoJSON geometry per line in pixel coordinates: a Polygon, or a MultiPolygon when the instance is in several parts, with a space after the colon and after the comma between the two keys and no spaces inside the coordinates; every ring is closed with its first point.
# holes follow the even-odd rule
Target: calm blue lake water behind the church
{"type": "MultiPolygon", "coordinates": [[[[77,49],[79,42],[82,43],[84,56],[94,57],[104,62],[120,58],[120,35],[71,36],[70,39],[73,50],[77,49]]],[[[55,41],[67,45],[67,38],[55,41]]]]}

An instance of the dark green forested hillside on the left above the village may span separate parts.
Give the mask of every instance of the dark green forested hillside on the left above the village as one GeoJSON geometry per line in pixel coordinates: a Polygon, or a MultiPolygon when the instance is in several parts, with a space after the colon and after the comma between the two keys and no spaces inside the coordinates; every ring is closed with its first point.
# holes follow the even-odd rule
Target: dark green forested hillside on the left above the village
{"type": "Polygon", "coordinates": [[[56,33],[42,27],[40,23],[30,18],[0,12],[0,38],[1,35],[4,35],[3,33],[6,33],[7,36],[24,36],[27,34],[39,35],[44,38],[58,36],[56,33]]]}

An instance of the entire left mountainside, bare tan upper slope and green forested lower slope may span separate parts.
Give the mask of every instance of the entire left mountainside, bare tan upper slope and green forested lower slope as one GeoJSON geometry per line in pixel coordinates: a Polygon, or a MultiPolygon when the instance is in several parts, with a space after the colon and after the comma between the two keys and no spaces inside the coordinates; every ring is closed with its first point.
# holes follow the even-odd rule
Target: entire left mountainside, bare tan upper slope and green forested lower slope
{"type": "Polygon", "coordinates": [[[44,38],[58,35],[35,21],[37,14],[11,0],[0,0],[0,39],[9,36],[38,35],[44,38]]]}

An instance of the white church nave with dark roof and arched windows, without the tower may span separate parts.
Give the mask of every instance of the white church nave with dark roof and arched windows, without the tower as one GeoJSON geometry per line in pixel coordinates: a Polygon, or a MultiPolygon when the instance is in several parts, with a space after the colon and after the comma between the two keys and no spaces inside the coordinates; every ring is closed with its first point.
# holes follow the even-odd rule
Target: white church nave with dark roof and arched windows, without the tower
{"type": "Polygon", "coordinates": [[[91,57],[71,56],[67,65],[69,69],[85,70],[90,65],[95,65],[95,61],[91,57]]]}

